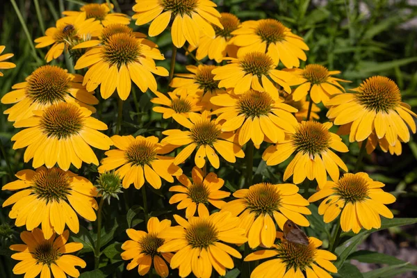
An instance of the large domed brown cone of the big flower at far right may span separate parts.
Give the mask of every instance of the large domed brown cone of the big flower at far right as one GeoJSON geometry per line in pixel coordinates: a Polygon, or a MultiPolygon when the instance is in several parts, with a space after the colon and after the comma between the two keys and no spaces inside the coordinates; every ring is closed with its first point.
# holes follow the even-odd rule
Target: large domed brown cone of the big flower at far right
{"type": "Polygon", "coordinates": [[[363,106],[376,112],[388,113],[401,103],[398,85],[385,76],[373,76],[359,85],[357,99],[363,106]]]}

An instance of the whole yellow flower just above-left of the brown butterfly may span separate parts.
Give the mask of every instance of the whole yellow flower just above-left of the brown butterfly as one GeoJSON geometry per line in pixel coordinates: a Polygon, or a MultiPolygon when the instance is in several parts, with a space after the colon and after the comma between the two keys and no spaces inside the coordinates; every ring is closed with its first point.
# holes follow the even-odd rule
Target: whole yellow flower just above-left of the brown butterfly
{"type": "Polygon", "coordinates": [[[238,199],[222,206],[222,211],[239,215],[238,227],[245,229],[251,248],[261,244],[271,247],[277,234],[275,223],[280,229],[284,228],[288,219],[300,226],[309,226],[309,220],[303,215],[311,214],[309,208],[306,208],[309,202],[297,193],[298,190],[291,183],[257,183],[249,189],[233,193],[238,199]]]}

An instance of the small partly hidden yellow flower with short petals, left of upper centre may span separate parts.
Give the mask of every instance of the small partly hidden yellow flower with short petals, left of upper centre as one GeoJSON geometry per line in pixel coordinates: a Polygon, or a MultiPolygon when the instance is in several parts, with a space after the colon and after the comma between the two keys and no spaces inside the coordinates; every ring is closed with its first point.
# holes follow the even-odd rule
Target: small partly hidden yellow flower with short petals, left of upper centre
{"type": "Polygon", "coordinates": [[[151,99],[154,104],[161,104],[161,106],[154,106],[152,108],[156,113],[162,113],[164,119],[169,119],[174,114],[183,115],[188,118],[190,112],[198,112],[202,110],[201,104],[197,98],[186,95],[186,92],[181,92],[179,95],[174,92],[168,92],[168,96],[155,92],[157,97],[151,99]]]}

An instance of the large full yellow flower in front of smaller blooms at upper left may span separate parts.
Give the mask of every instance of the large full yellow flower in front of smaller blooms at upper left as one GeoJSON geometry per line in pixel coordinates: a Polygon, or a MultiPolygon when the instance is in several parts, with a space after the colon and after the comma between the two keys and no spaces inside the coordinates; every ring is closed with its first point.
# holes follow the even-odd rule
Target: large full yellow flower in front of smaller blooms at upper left
{"type": "Polygon", "coordinates": [[[131,81],[142,92],[148,88],[156,92],[153,74],[169,75],[164,67],[155,65],[154,59],[164,60],[157,48],[149,47],[134,33],[122,32],[111,35],[101,45],[87,51],[74,68],[89,67],[83,81],[87,90],[93,91],[101,84],[101,97],[108,99],[117,88],[119,97],[126,100],[131,92],[131,81]]]}

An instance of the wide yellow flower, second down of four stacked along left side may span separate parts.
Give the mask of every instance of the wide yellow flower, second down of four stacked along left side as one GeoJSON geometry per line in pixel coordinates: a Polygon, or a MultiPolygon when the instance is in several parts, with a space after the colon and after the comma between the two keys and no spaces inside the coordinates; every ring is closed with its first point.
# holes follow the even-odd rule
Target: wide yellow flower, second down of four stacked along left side
{"type": "Polygon", "coordinates": [[[12,137],[13,149],[27,147],[24,162],[33,158],[33,167],[48,168],[58,163],[62,170],[70,165],[77,169],[81,163],[99,165],[91,147],[110,149],[108,136],[97,130],[106,130],[104,122],[91,117],[91,111],[77,104],[59,102],[44,111],[33,111],[33,116],[15,122],[17,128],[26,127],[12,137]]]}

